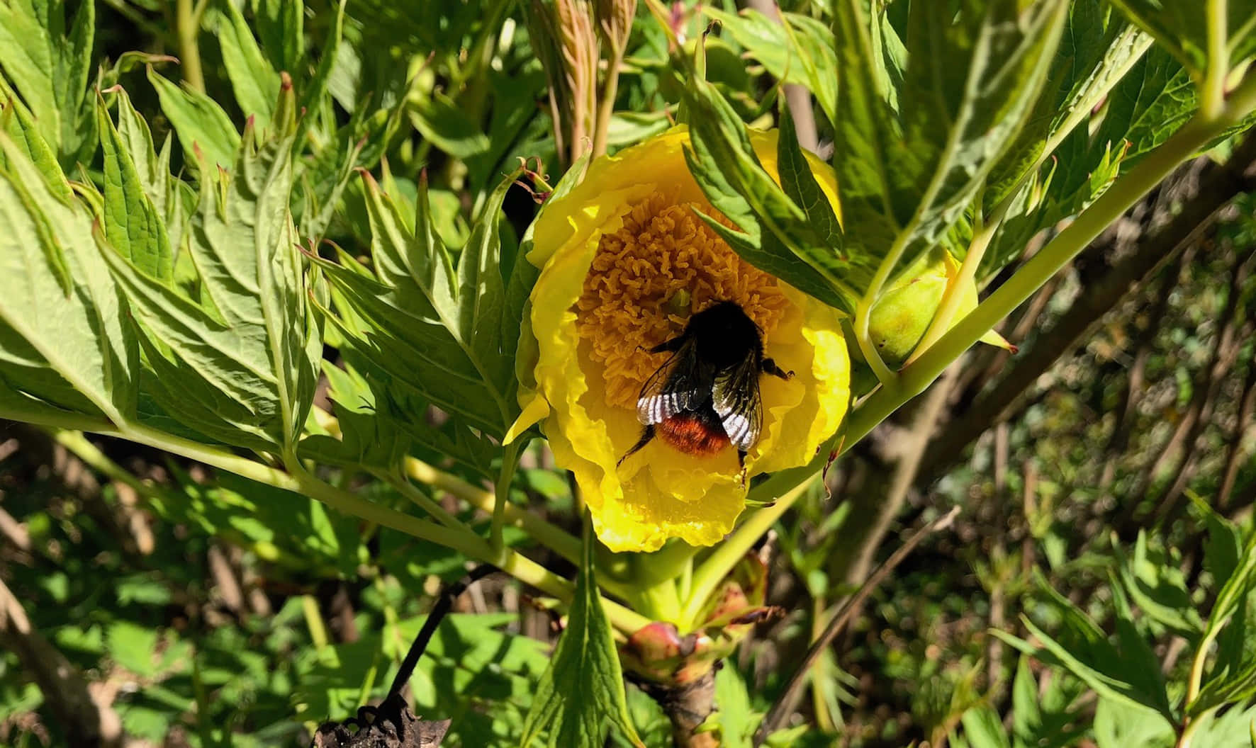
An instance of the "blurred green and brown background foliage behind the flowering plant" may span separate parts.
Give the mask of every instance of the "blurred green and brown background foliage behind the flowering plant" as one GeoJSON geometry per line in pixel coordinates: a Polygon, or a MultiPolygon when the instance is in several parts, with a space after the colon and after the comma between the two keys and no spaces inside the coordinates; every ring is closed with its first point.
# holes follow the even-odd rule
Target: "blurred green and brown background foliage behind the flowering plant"
{"type": "MultiPolygon", "coordinates": [[[[13,3],[0,3],[0,18],[15,13],[13,3]]],[[[411,205],[425,171],[437,232],[460,246],[520,158],[540,158],[554,183],[569,157],[555,141],[546,74],[516,3],[35,6],[57,16],[48,48],[78,73],[57,73],[40,92],[39,80],[14,74],[11,59],[0,59],[0,69],[40,115],[62,166],[84,182],[104,181],[89,82],[102,92],[122,85],[157,148],[177,143],[172,171],[193,173],[183,129],[192,126],[180,113],[220,107],[221,115],[196,120],[217,128],[198,142],[230,152],[245,112],[266,127],[275,90],[257,82],[280,70],[306,109],[294,191],[301,236],[327,238],[350,256],[371,251],[354,168],[386,166],[391,195],[411,205]],[[84,45],[89,65],[74,63],[84,45]],[[79,73],[82,87],[60,85],[58,75],[79,73]]],[[[823,39],[828,3],[781,6],[798,14],[800,44],[813,34],[823,39]]],[[[902,6],[891,6],[891,23],[902,20],[902,6]]],[[[775,122],[781,79],[811,87],[824,108],[823,83],[786,64],[779,26],[764,16],[731,1],[706,13],[681,3],[669,10],[690,44],[710,20],[725,21],[707,40],[706,75],[746,122],[775,122]]],[[[815,54],[834,64],[824,49],[815,54]]],[[[1144,78],[1173,97],[1184,74],[1154,54],[1144,78]]],[[[685,88],[663,28],[646,13],[622,70],[612,151],[666,129],[685,88]]],[[[831,136],[821,118],[813,144],[823,149],[831,136]]],[[[1223,144],[1213,161],[1232,147],[1223,144]]],[[[818,491],[781,521],[769,542],[770,595],[786,615],[720,670],[726,744],[749,744],[756,715],[781,694],[793,663],[897,532],[952,505],[962,507],[955,531],[926,541],[875,592],[813,670],[793,727],[771,744],[1176,744],[1167,720],[1148,717],[1119,689],[1096,690],[1085,668],[1103,671],[1099,681],[1109,685],[1140,670],[1179,699],[1192,665],[1188,644],[1236,574],[1218,561],[1223,541],[1241,547],[1251,535],[1256,205],[1248,191],[1256,182],[1243,176],[1227,193],[1210,191],[1220,179],[1213,161],[1203,156],[1182,169],[1005,323],[1019,358],[992,349],[967,355],[830,468],[828,496],[818,491]],[[1230,206],[1215,225],[1178,241],[1164,227],[1197,200],[1230,206]],[[1159,256],[1148,260],[1139,251],[1145,245],[1159,256]],[[1129,269],[1132,257],[1142,257],[1142,272],[1129,269]],[[1130,282],[1113,280],[1122,272],[1139,281],[1130,292],[1130,282]],[[1117,654],[1074,648],[1089,664],[1041,650],[1045,635],[1093,644],[1095,631],[1100,640],[1132,639],[1117,654]]],[[[535,202],[515,188],[504,211],[509,254],[535,202]]],[[[1020,247],[1004,251],[1006,261],[1020,247]]],[[[325,405],[325,384],[319,393],[325,405]]],[[[317,501],[134,444],[4,424],[0,456],[6,597],[29,616],[50,663],[64,663],[121,720],[128,744],[308,742],[313,724],[382,694],[440,585],[465,570],[456,555],[317,501]]],[[[534,446],[522,464],[516,502],[577,528],[569,487],[548,469],[545,449],[534,446]]],[[[481,476],[474,466],[450,469],[481,476]]],[[[337,478],[403,503],[383,483],[337,478]]],[[[526,589],[499,577],[474,587],[457,611],[420,665],[416,712],[452,719],[447,744],[515,744],[555,620],[526,589]]],[[[1251,616],[1256,611],[1241,611],[1235,625],[1256,625],[1251,616]]],[[[1250,633],[1232,636],[1250,649],[1250,633]]],[[[15,651],[0,653],[4,744],[59,745],[73,737],[51,703],[69,697],[43,693],[15,651]]],[[[1241,692],[1232,698],[1240,705],[1208,717],[1197,745],[1250,745],[1250,699],[1241,692]]],[[[658,707],[634,688],[629,705],[646,743],[666,744],[658,707]]]]}

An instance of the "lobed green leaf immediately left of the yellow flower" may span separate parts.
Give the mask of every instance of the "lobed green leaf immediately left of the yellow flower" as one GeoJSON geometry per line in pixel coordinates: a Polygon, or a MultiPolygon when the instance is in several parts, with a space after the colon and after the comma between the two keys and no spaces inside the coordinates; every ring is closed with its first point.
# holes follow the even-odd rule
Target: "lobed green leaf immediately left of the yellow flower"
{"type": "Polygon", "coordinates": [[[499,437],[517,413],[506,351],[517,339],[517,328],[509,328],[519,296],[507,310],[499,240],[501,203],[517,176],[489,196],[455,265],[432,227],[426,184],[411,225],[363,174],[378,280],[353,270],[348,257],[322,262],[340,300],[330,319],[357,350],[447,413],[499,437]]]}

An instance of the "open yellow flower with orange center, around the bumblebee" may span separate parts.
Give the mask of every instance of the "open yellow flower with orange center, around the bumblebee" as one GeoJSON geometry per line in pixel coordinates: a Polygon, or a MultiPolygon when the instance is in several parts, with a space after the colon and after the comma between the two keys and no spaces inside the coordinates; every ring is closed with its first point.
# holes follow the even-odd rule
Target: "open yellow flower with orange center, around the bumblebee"
{"type": "MultiPolygon", "coordinates": [[[[776,178],[776,133],[751,141],[776,178]]],[[[648,349],[679,335],[692,314],[735,301],[764,331],[766,355],[795,373],[761,378],[750,476],[809,462],[849,402],[840,313],[746,264],[695,215],[718,216],[686,167],[687,142],[677,127],[590,163],[583,182],[545,205],[528,257],[541,272],[520,344],[524,413],[507,438],[544,420],[558,464],[575,473],[614,551],[652,551],[671,537],[718,542],[745,507],[731,446],[693,456],[653,439],[615,464],[642,434],[641,388],[667,359],[648,349]]],[[[818,161],[811,169],[836,205],[831,169],[818,161]]]]}

